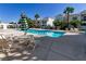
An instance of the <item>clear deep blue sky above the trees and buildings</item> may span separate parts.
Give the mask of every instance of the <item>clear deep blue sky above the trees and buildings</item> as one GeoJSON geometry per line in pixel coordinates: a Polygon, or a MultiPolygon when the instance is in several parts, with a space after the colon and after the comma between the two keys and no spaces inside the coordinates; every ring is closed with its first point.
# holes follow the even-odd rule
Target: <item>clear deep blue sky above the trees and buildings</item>
{"type": "Polygon", "coordinates": [[[33,20],[36,13],[40,18],[54,17],[63,14],[66,7],[73,7],[74,13],[86,10],[84,3],[0,3],[0,21],[2,23],[19,22],[22,12],[33,20]]]}

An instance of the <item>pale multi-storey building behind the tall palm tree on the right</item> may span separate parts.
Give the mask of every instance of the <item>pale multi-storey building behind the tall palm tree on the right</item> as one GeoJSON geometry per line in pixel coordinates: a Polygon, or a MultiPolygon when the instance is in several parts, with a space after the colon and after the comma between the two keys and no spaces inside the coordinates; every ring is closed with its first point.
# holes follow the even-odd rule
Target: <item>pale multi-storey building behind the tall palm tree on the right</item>
{"type": "MultiPolygon", "coordinates": [[[[56,16],[56,20],[66,22],[66,16],[65,16],[65,14],[58,14],[56,16]]],[[[73,20],[81,21],[83,23],[81,25],[81,29],[86,29],[86,10],[84,10],[84,11],[77,13],[77,14],[70,14],[69,20],[70,20],[69,22],[71,22],[73,20]]]]}

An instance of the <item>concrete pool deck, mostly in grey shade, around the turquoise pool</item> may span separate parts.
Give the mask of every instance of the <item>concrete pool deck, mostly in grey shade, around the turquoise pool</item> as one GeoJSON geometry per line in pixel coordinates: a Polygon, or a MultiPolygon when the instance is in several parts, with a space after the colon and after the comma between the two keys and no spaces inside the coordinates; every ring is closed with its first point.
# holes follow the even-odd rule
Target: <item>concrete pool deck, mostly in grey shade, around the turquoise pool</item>
{"type": "MultiPolygon", "coordinates": [[[[0,34],[23,35],[17,30],[0,30],[0,34]]],[[[5,56],[0,53],[0,60],[7,61],[86,61],[86,35],[66,33],[60,38],[35,36],[38,46],[33,52],[28,49],[17,50],[5,56]]]]}

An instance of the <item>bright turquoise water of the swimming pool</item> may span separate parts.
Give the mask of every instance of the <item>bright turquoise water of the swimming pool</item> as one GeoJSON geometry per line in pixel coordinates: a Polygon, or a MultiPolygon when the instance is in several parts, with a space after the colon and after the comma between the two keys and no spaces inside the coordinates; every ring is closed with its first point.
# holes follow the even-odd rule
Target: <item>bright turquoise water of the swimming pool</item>
{"type": "Polygon", "coordinates": [[[64,35],[63,31],[52,31],[52,30],[37,30],[37,29],[27,29],[26,33],[32,33],[35,35],[48,36],[48,37],[61,37],[64,35]]]}

